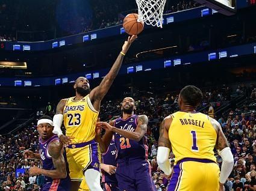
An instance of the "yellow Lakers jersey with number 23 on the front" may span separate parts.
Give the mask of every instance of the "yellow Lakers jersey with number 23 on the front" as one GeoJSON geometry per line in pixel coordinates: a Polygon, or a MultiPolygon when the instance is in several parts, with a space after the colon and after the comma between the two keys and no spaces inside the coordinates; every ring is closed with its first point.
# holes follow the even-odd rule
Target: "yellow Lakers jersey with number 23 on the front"
{"type": "Polygon", "coordinates": [[[67,99],[63,111],[66,136],[75,137],[73,144],[92,141],[99,112],[93,108],[89,95],[79,101],[73,99],[75,97],[67,99]]]}

